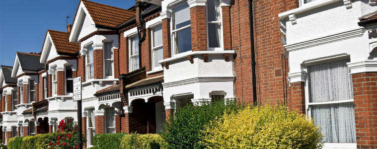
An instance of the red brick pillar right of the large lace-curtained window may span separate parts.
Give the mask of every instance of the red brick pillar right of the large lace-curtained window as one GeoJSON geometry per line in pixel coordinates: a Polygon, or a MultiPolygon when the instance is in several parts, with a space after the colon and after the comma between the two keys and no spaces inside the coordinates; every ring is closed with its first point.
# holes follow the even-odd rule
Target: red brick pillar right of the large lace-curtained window
{"type": "Polygon", "coordinates": [[[356,143],[359,149],[377,149],[377,73],[352,74],[356,143]]]}

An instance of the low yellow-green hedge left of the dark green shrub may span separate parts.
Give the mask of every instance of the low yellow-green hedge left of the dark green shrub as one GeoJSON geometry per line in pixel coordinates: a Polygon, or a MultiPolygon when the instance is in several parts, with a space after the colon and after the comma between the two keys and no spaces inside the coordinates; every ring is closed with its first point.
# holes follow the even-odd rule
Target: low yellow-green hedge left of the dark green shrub
{"type": "Polygon", "coordinates": [[[158,134],[130,134],[123,137],[121,149],[167,149],[167,143],[158,134]]]}

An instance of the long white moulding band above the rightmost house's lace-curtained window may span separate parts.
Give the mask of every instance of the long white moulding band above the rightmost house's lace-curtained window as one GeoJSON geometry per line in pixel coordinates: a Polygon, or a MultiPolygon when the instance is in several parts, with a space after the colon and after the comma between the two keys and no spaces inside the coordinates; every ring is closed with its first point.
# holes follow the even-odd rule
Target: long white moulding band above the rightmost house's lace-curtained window
{"type": "Polygon", "coordinates": [[[341,33],[332,34],[329,36],[324,36],[324,37],[307,40],[303,42],[286,44],[284,45],[284,47],[287,49],[288,52],[291,52],[291,51],[306,49],[309,47],[315,47],[315,46],[324,45],[324,44],[328,44],[332,42],[337,42],[341,40],[346,40],[350,38],[361,37],[364,35],[365,31],[366,29],[363,29],[363,28],[354,29],[354,30],[344,31],[341,33]]]}

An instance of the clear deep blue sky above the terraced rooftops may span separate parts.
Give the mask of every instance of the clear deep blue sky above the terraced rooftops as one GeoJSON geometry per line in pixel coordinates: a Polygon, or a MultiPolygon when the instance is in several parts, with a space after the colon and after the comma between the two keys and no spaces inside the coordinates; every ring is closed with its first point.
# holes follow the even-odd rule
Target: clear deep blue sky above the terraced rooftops
{"type": "MultiPolygon", "coordinates": [[[[128,9],[135,0],[91,0],[128,9]]],[[[47,29],[67,31],[79,0],[0,0],[0,65],[13,66],[19,52],[41,52],[47,29]]]]}

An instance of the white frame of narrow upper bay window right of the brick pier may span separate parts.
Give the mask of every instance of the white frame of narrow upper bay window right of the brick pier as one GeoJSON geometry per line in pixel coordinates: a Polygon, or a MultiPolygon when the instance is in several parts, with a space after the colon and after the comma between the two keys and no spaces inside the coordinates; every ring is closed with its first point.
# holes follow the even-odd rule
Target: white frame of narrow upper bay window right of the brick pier
{"type": "Polygon", "coordinates": [[[208,7],[206,3],[206,27],[207,27],[207,49],[208,51],[222,51],[224,50],[224,31],[223,31],[223,9],[221,7],[221,0],[220,0],[220,21],[208,21],[208,7]],[[208,24],[220,24],[220,47],[212,48],[209,45],[209,36],[208,36],[208,24]]]}

